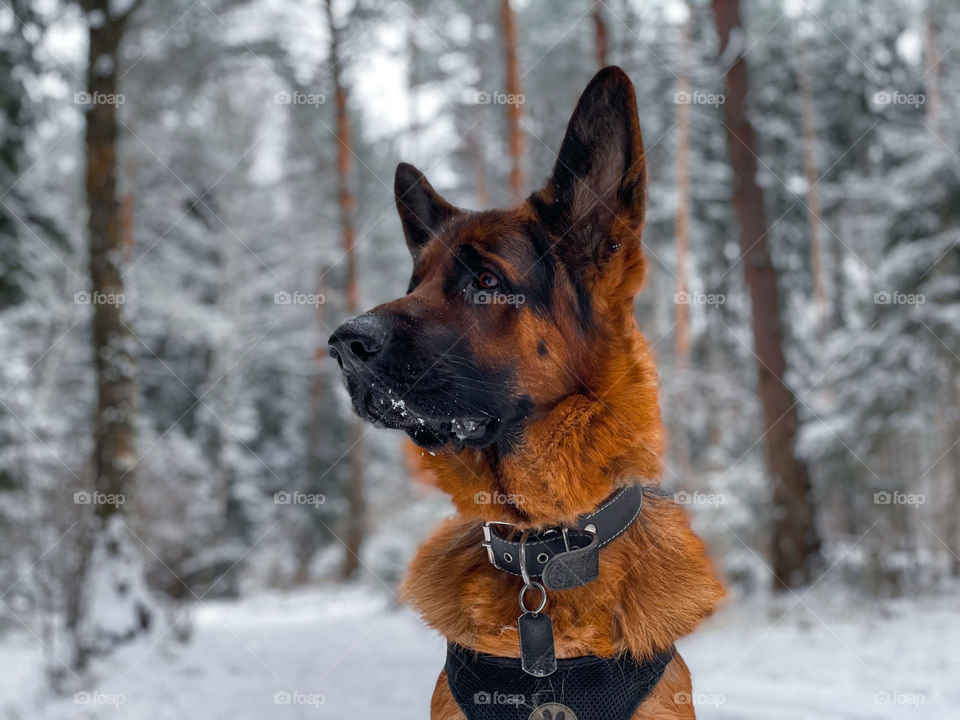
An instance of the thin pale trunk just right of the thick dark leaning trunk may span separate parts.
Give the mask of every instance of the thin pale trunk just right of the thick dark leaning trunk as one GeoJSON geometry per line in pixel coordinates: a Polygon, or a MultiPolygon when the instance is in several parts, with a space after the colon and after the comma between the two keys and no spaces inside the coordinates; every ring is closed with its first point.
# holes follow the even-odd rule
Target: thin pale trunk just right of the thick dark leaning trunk
{"type": "Polygon", "coordinates": [[[803,107],[803,172],[807,181],[807,231],[810,239],[810,275],[813,280],[813,304],[816,313],[816,331],[823,338],[826,331],[827,291],[823,264],[823,233],[820,187],[817,184],[817,131],[813,105],[813,83],[807,66],[807,48],[804,38],[797,41],[797,79],[800,85],[800,103],[803,107]]]}

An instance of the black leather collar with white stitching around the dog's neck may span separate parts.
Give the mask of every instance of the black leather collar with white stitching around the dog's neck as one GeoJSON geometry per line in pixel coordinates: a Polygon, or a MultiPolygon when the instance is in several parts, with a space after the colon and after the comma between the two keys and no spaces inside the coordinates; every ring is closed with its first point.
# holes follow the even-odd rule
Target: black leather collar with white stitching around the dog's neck
{"type": "MultiPolygon", "coordinates": [[[[483,524],[483,547],[490,562],[512,575],[539,578],[548,590],[567,590],[596,579],[600,548],[633,524],[643,507],[643,487],[628,485],[591,513],[581,515],[576,527],[551,527],[511,540],[498,529],[509,523],[483,524]],[[525,568],[521,568],[521,557],[525,568]],[[524,569],[526,572],[524,572],[524,569]]],[[[514,536],[516,533],[511,533],[514,536]]]]}

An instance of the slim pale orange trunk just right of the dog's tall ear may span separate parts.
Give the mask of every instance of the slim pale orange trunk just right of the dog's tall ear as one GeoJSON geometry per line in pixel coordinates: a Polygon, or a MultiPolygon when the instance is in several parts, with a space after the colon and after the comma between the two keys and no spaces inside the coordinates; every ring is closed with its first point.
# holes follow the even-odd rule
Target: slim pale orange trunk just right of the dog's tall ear
{"type": "MultiPolygon", "coordinates": [[[[680,39],[683,68],[677,78],[677,99],[690,96],[690,23],[692,13],[687,15],[680,39]]],[[[686,407],[686,369],[690,357],[690,283],[687,280],[687,256],[690,248],[690,103],[676,102],[677,108],[677,164],[676,194],[677,214],[674,218],[674,235],[677,240],[677,286],[674,297],[676,369],[680,382],[676,396],[676,417],[684,417],[686,407]]],[[[690,470],[690,453],[686,428],[677,426],[674,435],[677,465],[681,476],[686,478],[690,470]]]]}

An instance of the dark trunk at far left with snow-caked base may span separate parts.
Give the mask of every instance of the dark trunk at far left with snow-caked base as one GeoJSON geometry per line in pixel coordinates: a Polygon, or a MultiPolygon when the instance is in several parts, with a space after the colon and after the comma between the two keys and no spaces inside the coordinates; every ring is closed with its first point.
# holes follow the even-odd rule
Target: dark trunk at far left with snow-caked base
{"type": "Polygon", "coordinates": [[[88,299],[93,311],[97,404],[91,463],[93,493],[86,501],[93,506],[94,519],[84,524],[81,532],[78,584],[67,610],[77,668],[83,668],[92,653],[105,652],[145,630],[152,615],[143,568],[121,513],[137,464],[137,388],[136,341],[122,313],[125,243],[132,242],[125,233],[132,234],[132,225],[125,220],[117,195],[117,114],[122,102],[118,50],[134,7],[118,15],[110,12],[108,0],[83,3],[88,15],[101,13],[103,20],[89,26],[86,94],[79,100],[86,110],[88,299]]]}

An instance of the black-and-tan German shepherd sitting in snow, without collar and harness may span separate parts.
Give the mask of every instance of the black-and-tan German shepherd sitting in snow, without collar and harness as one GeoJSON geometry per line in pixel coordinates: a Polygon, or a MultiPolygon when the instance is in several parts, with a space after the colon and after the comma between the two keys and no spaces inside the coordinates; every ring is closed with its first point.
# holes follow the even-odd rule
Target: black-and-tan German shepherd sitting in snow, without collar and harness
{"type": "MultiPolygon", "coordinates": [[[[646,171],[630,79],[617,67],[593,78],[552,176],[518,207],[460,209],[408,164],[395,194],[413,256],[407,293],[329,342],[357,413],[405,431],[456,508],[411,563],[405,601],[449,643],[518,658],[517,597],[529,581],[491,564],[484,525],[573,527],[641,484],[641,511],[603,548],[596,579],[550,592],[545,612],[558,662],[672,652],[724,591],[685,513],[657,488],[657,373],[633,310],[646,171]]],[[[689,670],[669,657],[625,718],[694,717],[689,670]]],[[[431,718],[468,716],[442,672],[431,718]]]]}

